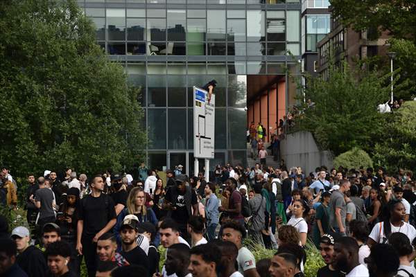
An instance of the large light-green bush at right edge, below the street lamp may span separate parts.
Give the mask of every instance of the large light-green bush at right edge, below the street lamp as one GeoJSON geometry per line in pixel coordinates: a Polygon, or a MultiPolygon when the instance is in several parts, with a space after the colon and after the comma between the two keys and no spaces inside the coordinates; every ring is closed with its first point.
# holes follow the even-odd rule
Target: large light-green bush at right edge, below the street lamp
{"type": "Polygon", "coordinates": [[[416,101],[405,102],[386,123],[383,140],[376,143],[373,161],[388,172],[416,170],[416,101]]]}

